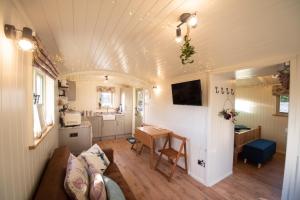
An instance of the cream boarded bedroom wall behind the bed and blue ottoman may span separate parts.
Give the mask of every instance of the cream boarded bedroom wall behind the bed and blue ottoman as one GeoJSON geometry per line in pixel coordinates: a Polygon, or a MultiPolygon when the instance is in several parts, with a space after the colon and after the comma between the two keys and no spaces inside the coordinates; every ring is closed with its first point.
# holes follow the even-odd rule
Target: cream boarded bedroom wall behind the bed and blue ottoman
{"type": "Polygon", "coordinates": [[[237,124],[251,128],[261,125],[262,138],[276,141],[277,151],[285,153],[288,118],[273,116],[276,97],[272,95],[272,85],[237,87],[236,103],[240,108],[237,124]]]}

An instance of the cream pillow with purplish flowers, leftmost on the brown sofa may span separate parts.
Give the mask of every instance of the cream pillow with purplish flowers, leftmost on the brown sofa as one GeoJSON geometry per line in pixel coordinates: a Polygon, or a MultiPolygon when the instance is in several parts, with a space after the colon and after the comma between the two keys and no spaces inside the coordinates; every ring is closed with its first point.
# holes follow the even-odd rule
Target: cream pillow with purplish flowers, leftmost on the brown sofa
{"type": "Polygon", "coordinates": [[[82,163],[72,154],[69,156],[65,190],[71,199],[85,200],[89,194],[89,176],[82,163]]]}

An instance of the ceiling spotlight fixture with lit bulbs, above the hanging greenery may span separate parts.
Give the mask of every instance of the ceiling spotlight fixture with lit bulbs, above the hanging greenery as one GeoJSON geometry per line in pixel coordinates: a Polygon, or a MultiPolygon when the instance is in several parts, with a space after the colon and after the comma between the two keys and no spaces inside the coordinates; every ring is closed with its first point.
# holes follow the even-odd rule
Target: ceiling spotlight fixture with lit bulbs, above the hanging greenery
{"type": "Polygon", "coordinates": [[[183,13],[182,15],[180,15],[179,20],[181,23],[177,25],[176,39],[175,39],[175,41],[177,43],[182,42],[181,28],[180,28],[181,25],[186,23],[187,24],[187,32],[189,33],[190,28],[196,28],[197,24],[198,24],[198,19],[197,19],[196,13],[193,13],[193,14],[183,13]]]}

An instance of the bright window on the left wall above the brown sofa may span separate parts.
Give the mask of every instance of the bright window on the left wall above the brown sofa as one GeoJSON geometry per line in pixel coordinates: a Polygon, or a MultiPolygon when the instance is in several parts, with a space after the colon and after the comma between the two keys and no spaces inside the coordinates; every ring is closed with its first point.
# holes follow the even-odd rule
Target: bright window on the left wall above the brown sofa
{"type": "Polygon", "coordinates": [[[54,80],[38,69],[34,70],[33,77],[33,132],[36,139],[54,124],[54,80]]]}

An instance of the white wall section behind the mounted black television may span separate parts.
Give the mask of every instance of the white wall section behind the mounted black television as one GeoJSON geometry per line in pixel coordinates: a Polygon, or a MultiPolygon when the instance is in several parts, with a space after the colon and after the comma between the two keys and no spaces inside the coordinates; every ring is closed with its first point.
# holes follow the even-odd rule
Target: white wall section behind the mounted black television
{"type": "Polygon", "coordinates": [[[145,122],[187,137],[189,174],[205,183],[205,168],[197,160],[206,160],[207,75],[181,76],[157,85],[157,89],[151,88],[151,99],[145,106],[145,122]],[[197,79],[201,79],[203,106],[173,105],[171,84],[197,79]]]}

